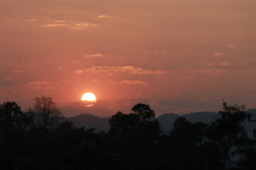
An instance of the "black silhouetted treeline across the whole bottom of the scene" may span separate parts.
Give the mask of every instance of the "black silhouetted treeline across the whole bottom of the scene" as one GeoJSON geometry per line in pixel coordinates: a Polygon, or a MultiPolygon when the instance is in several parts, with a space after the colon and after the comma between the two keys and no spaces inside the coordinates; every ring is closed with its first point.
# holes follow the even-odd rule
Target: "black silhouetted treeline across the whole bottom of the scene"
{"type": "Polygon", "coordinates": [[[23,112],[15,102],[0,106],[0,169],[155,170],[256,169],[255,140],[242,126],[245,106],[223,103],[210,124],[177,118],[164,132],[142,103],[117,112],[109,132],[76,128],[52,98],[35,98],[23,112]]]}

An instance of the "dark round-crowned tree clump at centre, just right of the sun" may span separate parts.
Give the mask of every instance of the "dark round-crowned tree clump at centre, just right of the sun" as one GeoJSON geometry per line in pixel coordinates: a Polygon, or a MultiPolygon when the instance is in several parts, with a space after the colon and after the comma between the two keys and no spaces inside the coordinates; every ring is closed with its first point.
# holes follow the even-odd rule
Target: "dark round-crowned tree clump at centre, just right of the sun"
{"type": "Polygon", "coordinates": [[[110,119],[110,135],[125,140],[152,142],[161,132],[160,123],[154,120],[154,111],[148,105],[138,103],[134,113],[117,112],[110,119]]]}

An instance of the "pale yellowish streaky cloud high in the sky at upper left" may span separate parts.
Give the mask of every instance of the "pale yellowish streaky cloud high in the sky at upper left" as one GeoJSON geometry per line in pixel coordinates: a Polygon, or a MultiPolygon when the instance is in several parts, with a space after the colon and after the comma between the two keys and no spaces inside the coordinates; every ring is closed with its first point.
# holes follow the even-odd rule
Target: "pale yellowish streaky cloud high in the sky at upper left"
{"type": "Polygon", "coordinates": [[[50,20],[46,21],[46,24],[41,25],[43,27],[67,27],[71,29],[87,29],[90,27],[95,27],[97,24],[83,22],[83,21],[68,21],[68,20],[50,20]]]}

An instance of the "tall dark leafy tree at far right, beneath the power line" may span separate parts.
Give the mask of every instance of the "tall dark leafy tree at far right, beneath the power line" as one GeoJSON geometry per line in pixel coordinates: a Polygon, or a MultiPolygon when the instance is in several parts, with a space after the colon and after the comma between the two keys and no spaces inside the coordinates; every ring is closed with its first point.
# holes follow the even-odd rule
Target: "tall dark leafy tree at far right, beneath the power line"
{"type": "Polygon", "coordinates": [[[219,111],[218,118],[210,125],[208,137],[211,142],[218,146],[220,161],[228,164],[235,154],[243,154],[250,145],[245,128],[242,123],[247,118],[245,106],[229,106],[223,103],[223,110],[219,111]]]}

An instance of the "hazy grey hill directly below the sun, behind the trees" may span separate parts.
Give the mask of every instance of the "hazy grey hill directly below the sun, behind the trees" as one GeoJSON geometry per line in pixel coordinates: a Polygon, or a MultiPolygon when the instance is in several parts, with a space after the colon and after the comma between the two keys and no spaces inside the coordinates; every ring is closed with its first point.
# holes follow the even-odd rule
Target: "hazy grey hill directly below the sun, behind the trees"
{"type": "Polygon", "coordinates": [[[110,130],[109,120],[110,118],[100,118],[96,115],[91,115],[90,113],[83,113],[68,118],[68,120],[73,121],[74,125],[77,127],[85,127],[86,129],[95,128],[98,132],[110,130]]]}

